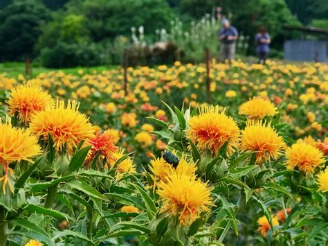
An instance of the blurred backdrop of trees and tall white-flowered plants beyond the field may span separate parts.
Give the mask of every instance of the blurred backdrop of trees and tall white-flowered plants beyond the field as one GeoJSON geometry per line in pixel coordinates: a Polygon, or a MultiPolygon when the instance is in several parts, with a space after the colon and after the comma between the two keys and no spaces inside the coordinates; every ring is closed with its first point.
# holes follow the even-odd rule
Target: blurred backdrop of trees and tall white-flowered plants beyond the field
{"type": "Polygon", "coordinates": [[[271,58],[288,40],[327,40],[327,0],[0,0],[0,62],[116,65],[125,51],[131,66],[202,62],[205,48],[217,56],[223,17],[239,30],[237,58],[255,55],[262,25],[271,58]]]}

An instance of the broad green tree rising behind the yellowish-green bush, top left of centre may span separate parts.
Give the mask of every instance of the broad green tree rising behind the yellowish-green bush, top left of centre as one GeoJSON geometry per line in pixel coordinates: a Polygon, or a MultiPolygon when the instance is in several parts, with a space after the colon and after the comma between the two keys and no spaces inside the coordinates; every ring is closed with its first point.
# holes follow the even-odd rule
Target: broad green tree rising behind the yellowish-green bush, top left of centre
{"type": "Polygon", "coordinates": [[[85,28],[95,42],[118,35],[130,35],[131,26],[144,26],[145,33],[167,28],[174,18],[174,12],[165,0],[129,1],[86,0],[71,1],[68,12],[84,15],[85,28]]]}

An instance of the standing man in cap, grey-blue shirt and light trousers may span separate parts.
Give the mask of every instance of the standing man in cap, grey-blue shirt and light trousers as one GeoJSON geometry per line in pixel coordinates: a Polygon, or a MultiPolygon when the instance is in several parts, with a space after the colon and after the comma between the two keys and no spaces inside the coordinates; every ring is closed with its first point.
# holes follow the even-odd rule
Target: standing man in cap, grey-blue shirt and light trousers
{"type": "Polygon", "coordinates": [[[219,32],[220,61],[224,62],[226,59],[233,60],[235,58],[238,31],[235,26],[230,26],[228,19],[222,19],[221,23],[222,29],[219,32]]]}

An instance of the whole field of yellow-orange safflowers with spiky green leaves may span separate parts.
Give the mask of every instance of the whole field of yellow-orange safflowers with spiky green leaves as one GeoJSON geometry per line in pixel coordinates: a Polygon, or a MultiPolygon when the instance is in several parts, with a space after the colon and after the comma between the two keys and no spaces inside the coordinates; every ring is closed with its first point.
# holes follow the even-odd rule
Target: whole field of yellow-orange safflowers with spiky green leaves
{"type": "Polygon", "coordinates": [[[327,245],[327,64],[0,74],[0,246],[327,245]]]}

